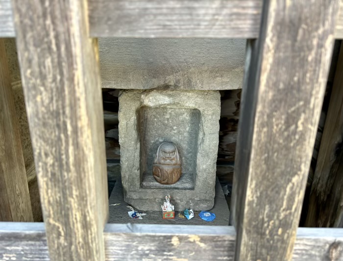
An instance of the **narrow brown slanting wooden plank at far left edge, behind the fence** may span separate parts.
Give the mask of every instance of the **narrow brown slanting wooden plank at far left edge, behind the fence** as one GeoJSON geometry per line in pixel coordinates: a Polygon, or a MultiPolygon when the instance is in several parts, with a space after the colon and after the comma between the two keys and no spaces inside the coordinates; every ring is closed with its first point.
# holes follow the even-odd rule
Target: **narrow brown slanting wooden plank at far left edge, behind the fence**
{"type": "Polygon", "coordinates": [[[3,39],[0,39],[0,221],[33,221],[3,39]]]}

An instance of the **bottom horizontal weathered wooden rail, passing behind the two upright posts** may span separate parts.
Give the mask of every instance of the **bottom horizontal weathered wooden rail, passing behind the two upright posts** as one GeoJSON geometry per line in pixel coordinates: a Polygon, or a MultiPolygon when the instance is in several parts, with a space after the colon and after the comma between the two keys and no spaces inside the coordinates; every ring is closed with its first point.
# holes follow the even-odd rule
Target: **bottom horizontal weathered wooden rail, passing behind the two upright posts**
{"type": "MultiPolygon", "coordinates": [[[[106,260],[233,260],[229,226],[107,224],[106,260]]],[[[44,223],[0,223],[0,260],[49,260],[44,223]]],[[[341,260],[343,229],[299,228],[293,261],[341,260]]]]}

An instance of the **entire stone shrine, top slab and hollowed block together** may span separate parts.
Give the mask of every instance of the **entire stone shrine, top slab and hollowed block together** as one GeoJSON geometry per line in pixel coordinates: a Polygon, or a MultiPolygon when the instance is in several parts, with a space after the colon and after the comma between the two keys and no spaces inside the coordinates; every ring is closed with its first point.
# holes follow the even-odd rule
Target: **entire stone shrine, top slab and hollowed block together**
{"type": "MultiPolygon", "coordinates": [[[[175,211],[210,210],[219,90],[242,88],[245,40],[100,38],[99,50],[102,87],[121,90],[118,130],[125,202],[160,212],[170,195],[175,211]],[[168,148],[175,150],[169,158],[177,150],[178,164],[155,162],[165,142],[174,145],[168,148]]],[[[225,201],[223,194],[217,196],[225,201]]]]}

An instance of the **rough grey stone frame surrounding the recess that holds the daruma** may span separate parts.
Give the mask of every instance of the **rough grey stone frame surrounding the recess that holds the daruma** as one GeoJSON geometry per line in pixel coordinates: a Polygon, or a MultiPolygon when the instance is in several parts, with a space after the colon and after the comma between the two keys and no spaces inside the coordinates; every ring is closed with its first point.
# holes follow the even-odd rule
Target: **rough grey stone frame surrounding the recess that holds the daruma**
{"type": "MultiPolygon", "coordinates": [[[[182,211],[186,207],[193,208],[194,210],[211,209],[215,196],[220,112],[219,91],[122,91],[119,97],[118,116],[124,200],[134,207],[139,207],[145,211],[158,211],[160,199],[166,195],[171,195],[176,202],[176,211],[182,211]],[[196,142],[194,143],[196,144],[195,167],[192,168],[190,164],[190,169],[195,171],[194,190],[142,188],[144,173],[144,168],[142,167],[144,165],[141,164],[141,153],[144,151],[144,147],[142,148],[142,135],[149,135],[141,133],[139,128],[139,111],[144,106],[150,108],[198,110],[199,120],[196,121],[198,122],[196,125],[198,135],[195,135],[196,142]]],[[[162,115],[163,117],[165,116],[164,113],[162,115]]],[[[190,123],[193,122],[192,120],[190,123]]],[[[174,124],[174,126],[179,126],[176,121],[174,124]]],[[[172,129],[174,129],[174,126],[170,125],[172,129]]],[[[186,124],[183,127],[183,131],[187,133],[192,132],[193,129],[191,129],[189,124],[186,124]]],[[[159,132],[155,134],[160,135],[159,132]]],[[[193,139],[191,134],[187,133],[185,135],[188,139],[193,139]]],[[[153,138],[148,140],[153,140],[153,138]]],[[[163,141],[161,140],[161,142],[163,141]]],[[[156,150],[149,151],[148,153],[154,155],[156,150]]],[[[153,156],[151,159],[153,159],[153,156]]]]}

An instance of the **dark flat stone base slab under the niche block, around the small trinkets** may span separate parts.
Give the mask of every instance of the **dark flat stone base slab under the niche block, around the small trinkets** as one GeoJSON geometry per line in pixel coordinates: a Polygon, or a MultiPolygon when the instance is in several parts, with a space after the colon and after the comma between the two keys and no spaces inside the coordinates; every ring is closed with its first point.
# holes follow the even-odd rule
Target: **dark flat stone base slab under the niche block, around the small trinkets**
{"type": "MultiPolygon", "coordinates": [[[[158,211],[144,211],[147,215],[143,216],[143,219],[133,219],[130,218],[127,214],[130,211],[126,206],[127,204],[123,200],[123,187],[121,180],[117,180],[114,189],[109,198],[109,212],[110,218],[109,223],[137,223],[137,224],[183,224],[183,225],[209,225],[209,226],[227,226],[229,224],[230,218],[230,211],[227,206],[224,193],[221,189],[221,185],[216,182],[216,196],[215,196],[215,204],[210,212],[216,214],[216,219],[207,222],[202,220],[198,214],[200,211],[194,212],[194,217],[188,220],[182,212],[175,212],[174,219],[162,219],[162,209],[161,205],[163,204],[164,198],[160,198],[156,204],[159,207],[158,211]],[[111,204],[118,204],[120,205],[112,205],[111,204]]],[[[172,204],[175,204],[175,200],[172,198],[172,204]]],[[[143,212],[140,208],[136,208],[135,210],[143,212]]]]}

